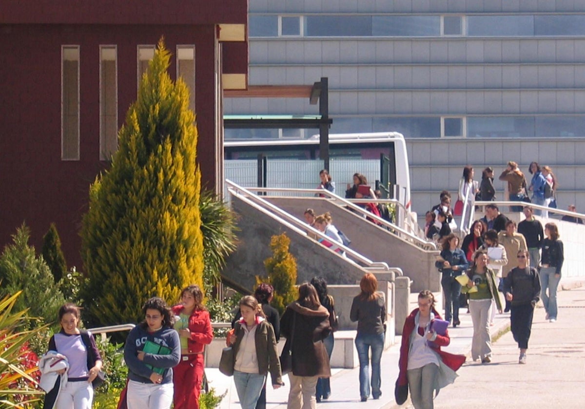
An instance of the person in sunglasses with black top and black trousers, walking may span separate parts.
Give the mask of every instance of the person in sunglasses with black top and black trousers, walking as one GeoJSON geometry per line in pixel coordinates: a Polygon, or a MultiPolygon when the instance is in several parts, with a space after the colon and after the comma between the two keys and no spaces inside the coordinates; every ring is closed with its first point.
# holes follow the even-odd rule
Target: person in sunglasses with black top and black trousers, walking
{"type": "Polygon", "coordinates": [[[538,271],[529,266],[528,250],[518,251],[518,267],[513,268],[504,278],[504,294],[510,301],[510,327],[514,341],[518,342],[520,357],[518,363],[526,363],[526,349],[532,328],[534,306],[538,303],[541,283],[538,271]]]}

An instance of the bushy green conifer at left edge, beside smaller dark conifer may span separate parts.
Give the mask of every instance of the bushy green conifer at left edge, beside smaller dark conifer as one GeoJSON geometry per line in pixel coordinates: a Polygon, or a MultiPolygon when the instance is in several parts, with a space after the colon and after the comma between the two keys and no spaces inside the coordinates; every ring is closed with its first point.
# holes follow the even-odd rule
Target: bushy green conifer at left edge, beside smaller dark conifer
{"type": "Polygon", "coordinates": [[[28,309],[29,317],[41,317],[44,323],[57,320],[57,311],[65,302],[63,294],[54,282],[49,266],[37,257],[35,248],[29,245],[30,229],[22,224],[12,235],[0,257],[0,297],[16,294],[15,309],[28,309]]]}

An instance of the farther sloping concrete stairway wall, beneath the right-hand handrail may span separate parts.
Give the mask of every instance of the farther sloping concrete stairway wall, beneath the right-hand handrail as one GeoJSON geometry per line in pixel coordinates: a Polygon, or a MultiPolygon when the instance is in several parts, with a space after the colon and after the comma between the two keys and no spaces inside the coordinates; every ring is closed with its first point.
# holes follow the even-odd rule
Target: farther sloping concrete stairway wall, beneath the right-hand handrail
{"type": "Polygon", "coordinates": [[[322,197],[265,196],[265,200],[302,220],[310,207],[317,214],[329,212],[333,224],[350,238],[350,248],[374,261],[399,267],[412,280],[411,290],[441,291],[441,275],[435,268],[437,250],[423,249],[415,242],[398,237],[354,212],[322,197]]]}

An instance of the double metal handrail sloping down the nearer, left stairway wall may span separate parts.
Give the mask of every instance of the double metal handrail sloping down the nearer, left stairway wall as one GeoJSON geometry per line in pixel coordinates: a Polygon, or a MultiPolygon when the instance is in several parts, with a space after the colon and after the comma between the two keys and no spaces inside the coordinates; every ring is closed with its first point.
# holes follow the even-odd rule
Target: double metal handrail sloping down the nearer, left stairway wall
{"type": "MultiPolygon", "coordinates": [[[[307,233],[308,231],[310,231],[311,234],[314,234],[317,237],[321,237],[324,240],[329,241],[330,238],[327,237],[325,234],[321,233],[321,231],[318,231],[315,228],[308,226],[306,223],[303,223],[301,220],[298,220],[296,217],[291,216],[287,212],[284,212],[284,210],[280,209],[277,206],[274,206],[274,204],[272,204],[270,202],[267,202],[266,200],[262,199],[260,196],[254,195],[248,189],[242,188],[242,186],[239,186],[236,183],[229,181],[228,179],[226,179],[226,183],[229,186],[228,191],[230,193],[232,193],[232,195],[239,196],[242,200],[245,200],[248,204],[250,204],[251,206],[260,210],[261,212],[266,213],[266,208],[270,209],[271,212],[273,212],[273,213],[271,213],[271,216],[277,217],[281,223],[283,223],[287,227],[292,228],[292,230],[297,231],[297,233],[300,233],[302,235],[307,236],[308,238],[311,238],[311,237],[309,237],[309,235],[307,233]],[[245,195],[241,195],[239,192],[245,193],[245,195]],[[254,202],[256,202],[256,203],[254,203],[254,202]],[[300,227],[298,227],[298,226],[300,226],[300,227]]],[[[256,189],[254,188],[254,190],[256,190],[256,189]]],[[[385,262],[371,261],[369,258],[364,257],[362,254],[359,254],[355,250],[353,250],[349,247],[346,247],[343,244],[335,243],[335,244],[333,244],[333,246],[334,247],[328,248],[328,250],[332,251],[335,254],[337,254],[335,252],[335,249],[340,248],[343,251],[345,251],[347,255],[351,255],[353,258],[355,258],[357,261],[361,262],[362,264],[366,265],[367,267],[379,267],[380,269],[383,269],[384,271],[390,270],[390,267],[388,267],[388,265],[385,262]]]]}

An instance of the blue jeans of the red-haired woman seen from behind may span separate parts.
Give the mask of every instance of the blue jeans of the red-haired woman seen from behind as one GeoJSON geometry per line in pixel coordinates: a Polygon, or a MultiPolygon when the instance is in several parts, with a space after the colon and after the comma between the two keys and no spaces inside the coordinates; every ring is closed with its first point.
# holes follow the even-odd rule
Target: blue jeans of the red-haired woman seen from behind
{"type": "Polygon", "coordinates": [[[371,348],[371,394],[374,399],[380,397],[380,360],[384,350],[384,333],[360,334],[356,337],[357,356],[360,359],[360,397],[370,396],[370,358],[371,348]]]}

